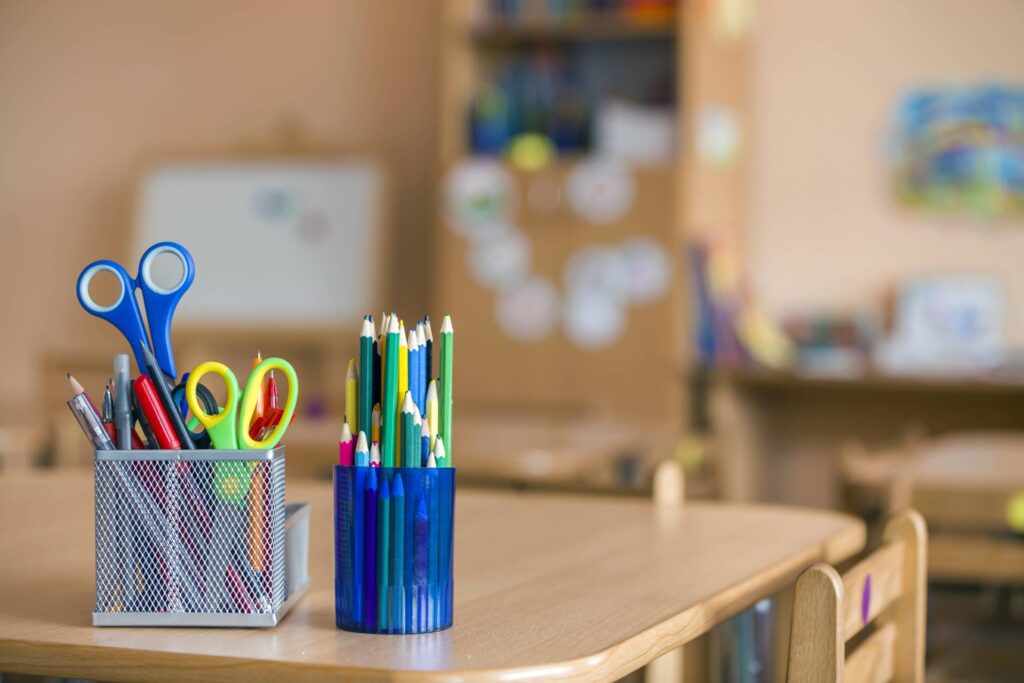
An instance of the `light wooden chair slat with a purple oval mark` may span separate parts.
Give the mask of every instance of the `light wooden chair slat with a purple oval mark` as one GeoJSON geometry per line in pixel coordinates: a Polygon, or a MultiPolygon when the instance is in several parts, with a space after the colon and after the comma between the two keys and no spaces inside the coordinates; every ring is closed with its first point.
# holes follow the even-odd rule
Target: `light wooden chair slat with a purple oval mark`
{"type": "Polygon", "coordinates": [[[843,637],[850,640],[903,591],[904,545],[882,546],[843,575],[843,637]]]}

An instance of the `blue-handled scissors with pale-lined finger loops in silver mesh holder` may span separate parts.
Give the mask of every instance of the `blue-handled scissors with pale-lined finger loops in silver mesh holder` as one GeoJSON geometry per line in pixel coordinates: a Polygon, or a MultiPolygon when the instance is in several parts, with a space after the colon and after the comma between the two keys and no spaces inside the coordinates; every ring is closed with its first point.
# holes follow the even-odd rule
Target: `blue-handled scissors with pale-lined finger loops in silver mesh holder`
{"type": "MultiPolygon", "coordinates": [[[[135,362],[138,364],[139,372],[145,373],[145,362],[142,359],[143,343],[151,344],[153,353],[157,357],[160,369],[172,380],[177,379],[177,370],[174,367],[174,352],[171,350],[171,318],[174,316],[174,309],[181,300],[181,296],[191,286],[196,278],[196,263],[191,254],[179,244],[173,242],[159,242],[142,254],[138,263],[138,274],[134,279],[128,274],[120,263],[102,260],[94,261],[85,266],[78,276],[78,301],[82,308],[101,317],[125,336],[135,353],[135,362]],[[153,263],[158,256],[172,254],[181,261],[181,281],[170,288],[163,288],[153,280],[153,263]],[[110,306],[100,306],[89,294],[89,284],[92,279],[100,272],[113,272],[121,283],[121,294],[110,306]],[[145,319],[150,326],[146,334],[142,323],[142,314],[138,308],[138,301],[135,299],[135,290],[142,290],[142,303],[145,306],[145,319]]],[[[156,380],[157,378],[152,378],[156,380]]]]}

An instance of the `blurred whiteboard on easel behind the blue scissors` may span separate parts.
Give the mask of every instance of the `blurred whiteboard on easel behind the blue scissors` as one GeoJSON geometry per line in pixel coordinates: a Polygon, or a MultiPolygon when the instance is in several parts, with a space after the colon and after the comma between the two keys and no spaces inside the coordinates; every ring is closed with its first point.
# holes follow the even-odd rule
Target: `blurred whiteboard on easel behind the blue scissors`
{"type": "Polygon", "coordinates": [[[176,323],[355,325],[377,309],[383,190],[370,160],[162,166],[142,180],[132,254],[164,240],[191,253],[176,323]]]}

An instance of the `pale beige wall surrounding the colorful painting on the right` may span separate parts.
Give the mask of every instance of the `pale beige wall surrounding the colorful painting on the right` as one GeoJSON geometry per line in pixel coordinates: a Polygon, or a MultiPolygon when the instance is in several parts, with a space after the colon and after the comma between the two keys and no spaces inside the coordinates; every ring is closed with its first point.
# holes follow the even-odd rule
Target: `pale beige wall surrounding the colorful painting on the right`
{"type": "Polygon", "coordinates": [[[1024,345],[1024,224],[936,220],[890,200],[885,123],[906,88],[1024,85],[1020,0],[766,0],[755,49],[748,240],[776,313],[853,309],[900,276],[979,269],[1024,345]]]}

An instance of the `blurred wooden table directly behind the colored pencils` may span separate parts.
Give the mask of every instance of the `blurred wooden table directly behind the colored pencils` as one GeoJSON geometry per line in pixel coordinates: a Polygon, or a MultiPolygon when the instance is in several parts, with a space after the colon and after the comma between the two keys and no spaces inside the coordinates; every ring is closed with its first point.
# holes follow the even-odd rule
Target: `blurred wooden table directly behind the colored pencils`
{"type": "MultiPolygon", "coordinates": [[[[665,423],[603,418],[457,413],[459,485],[647,493],[654,466],[672,457],[665,423]]],[[[288,431],[290,476],[331,477],[340,421],[296,420],[288,431]]]]}

